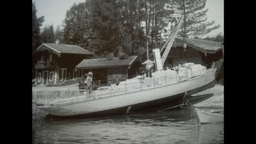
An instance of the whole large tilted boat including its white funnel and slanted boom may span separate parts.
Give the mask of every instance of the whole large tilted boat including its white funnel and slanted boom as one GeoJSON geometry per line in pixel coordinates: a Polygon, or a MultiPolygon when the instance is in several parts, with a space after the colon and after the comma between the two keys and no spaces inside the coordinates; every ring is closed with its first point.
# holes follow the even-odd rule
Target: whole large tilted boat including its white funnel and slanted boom
{"type": "MultiPolygon", "coordinates": [[[[56,99],[37,102],[36,107],[56,117],[96,117],[147,111],[163,106],[175,107],[186,103],[190,95],[212,88],[215,85],[214,62],[211,67],[186,63],[175,69],[163,69],[165,59],[171,49],[181,25],[168,38],[163,56],[154,49],[156,72],[151,72],[152,63],[146,65],[148,77],[136,76],[118,84],[111,84],[94,91],[92,95],[68,97],[58,94],[56,99]]],[[[163,49],[162,49],[163,50],[163,49]]],[[[72,92],[73,93],[73,92],[72,92]]],[[[75,93],[75,92],[74,92],[75,93]]]]}

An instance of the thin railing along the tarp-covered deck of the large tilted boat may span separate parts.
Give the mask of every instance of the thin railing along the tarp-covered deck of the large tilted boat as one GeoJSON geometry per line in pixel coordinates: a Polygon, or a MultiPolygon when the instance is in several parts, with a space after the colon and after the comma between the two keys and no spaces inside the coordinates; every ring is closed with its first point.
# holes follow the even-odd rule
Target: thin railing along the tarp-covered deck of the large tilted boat
{"type": "Polygon", "coordinates": [[[110,86],[98,88],[91,94],[79,92],[79,88],[36,92],[36,103],[38,106],[62,105],[161,87],[164,85],[186,81],[194,77],[203,76],[214,70],[214,62],[198,68],[199,70],[196,71],[183,68],[172,73],[152,75],[151,78],[137,76],[136,78],[126,79],[125,81],[120,82],[118,85],[111,84],[110,86]],[[209,67],[209,69],[207,69],[206,66],[209,67]]]}

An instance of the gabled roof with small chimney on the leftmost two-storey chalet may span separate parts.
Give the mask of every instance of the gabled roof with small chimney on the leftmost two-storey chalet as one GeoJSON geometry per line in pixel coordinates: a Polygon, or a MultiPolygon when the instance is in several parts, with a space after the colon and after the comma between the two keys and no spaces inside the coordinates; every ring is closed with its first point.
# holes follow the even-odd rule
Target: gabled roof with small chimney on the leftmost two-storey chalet
{"type": "Polygon", "coordinates": [[[83,49],[82,47],[78,45],[72,45],[72,44],[50,44],[50,43],[44,43],[41,46],[39,46],[35,52],[40,51],[40,49],[43,49],[44,47],[47,47],[49,49],[52,49],[56,53],[69,53],[69,54],[88,54],[92,55],[92,52],[89,52],[88,50],[83,49]]]}

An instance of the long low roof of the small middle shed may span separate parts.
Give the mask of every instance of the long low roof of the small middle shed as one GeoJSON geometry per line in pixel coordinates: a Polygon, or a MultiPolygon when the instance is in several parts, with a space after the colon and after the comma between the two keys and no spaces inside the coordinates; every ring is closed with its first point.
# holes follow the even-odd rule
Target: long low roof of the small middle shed
{"type": "Polygon", "coordinates": [[[119,60],[118,57],[114,57],[113,60],[107,60],[106,58],[98,59],[84,59],[76,68],[107,68],[107,67],[124,67],[131,66],[133,62],[140,61],[138,56],[129,56],[128,59],[119,60]]]}

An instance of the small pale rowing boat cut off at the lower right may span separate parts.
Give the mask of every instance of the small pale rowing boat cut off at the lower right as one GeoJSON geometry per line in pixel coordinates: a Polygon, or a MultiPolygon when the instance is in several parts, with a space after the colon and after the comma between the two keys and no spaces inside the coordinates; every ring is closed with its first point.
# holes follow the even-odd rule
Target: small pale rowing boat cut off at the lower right
{"type": "Polygon", "coordinates": [[[224,122],[224,109],[204,111],[196,108],[198,118],[201,123],[221,123],[224,122]]]}

